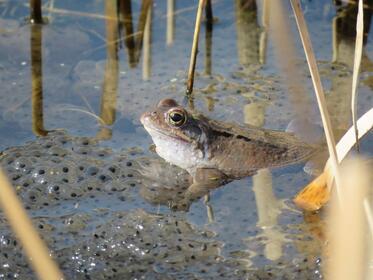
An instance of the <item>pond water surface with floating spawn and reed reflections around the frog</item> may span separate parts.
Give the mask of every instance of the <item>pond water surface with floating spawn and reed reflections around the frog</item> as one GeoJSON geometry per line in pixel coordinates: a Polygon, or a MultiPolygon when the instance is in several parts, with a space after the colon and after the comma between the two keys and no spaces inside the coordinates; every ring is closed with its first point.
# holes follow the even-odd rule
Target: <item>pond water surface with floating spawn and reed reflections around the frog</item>
{"type": "MultiPolygon", "coordinates": [[[[280,41],[265,28],[263,3],[212,1],[213,28],[202,22],[188,102],[198,1],[50,0],[43,25],[28,23],[29,1],[0,1],[0,162],[67,279],[322,278],[322,214],[304,215],[292,203],[312,180],[304,163],[260,170],[175,211],[186,174],[152,152],[139,122],[172,97],[218,120],[279,130],[292,124],[319,142],[291,7],[284,6],[292,32],[284,40],[293,38],[301,91],[281,65],[286,56],[276,55],[280,41]]],[[[302,5],[340,137],[351,123],[357,6],[302,5]]],[[[369,4],[359,115],[373,105],[371,11],[369,4]]],[[[371,140],[362,142],[367,155],[371,140]]],[[[29,279],[3,214],[0,220],[0,279],[29,279]]]]}

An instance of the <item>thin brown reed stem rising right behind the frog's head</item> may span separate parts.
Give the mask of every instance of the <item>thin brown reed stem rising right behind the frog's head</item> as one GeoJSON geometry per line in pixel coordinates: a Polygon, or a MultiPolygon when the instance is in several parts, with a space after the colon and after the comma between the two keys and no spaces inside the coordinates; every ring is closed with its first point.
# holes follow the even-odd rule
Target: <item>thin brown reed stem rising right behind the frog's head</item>
{"type": "Polygon", "coordinates": [[[192,52],[190,55],[190,63],[189,63],[189,71],[188,71],[188,82],[187,82],[187,91],[186,91],[186,94],[188,95],[192,94],[193,92],[194,72],[196,68],[197,52],[198,52],[198,37],[199,37],[199,31],[201,29],[202,10],[203,10],[203,6],[205,5],[205,1],[206,0],[199,0],[199,3],[198,3],[196,25],[194,27],[192,52]]]}

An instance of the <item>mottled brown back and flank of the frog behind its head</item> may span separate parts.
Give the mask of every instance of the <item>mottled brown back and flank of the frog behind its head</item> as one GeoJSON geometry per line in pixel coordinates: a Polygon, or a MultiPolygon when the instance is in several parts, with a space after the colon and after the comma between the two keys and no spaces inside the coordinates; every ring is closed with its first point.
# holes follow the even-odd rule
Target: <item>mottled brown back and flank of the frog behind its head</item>
{"type": "Polygon", "coordinates": [[[293,134],[254,126],[209,121],[208,157],[230,178],[307,159],[314,148],[293,134]]]}

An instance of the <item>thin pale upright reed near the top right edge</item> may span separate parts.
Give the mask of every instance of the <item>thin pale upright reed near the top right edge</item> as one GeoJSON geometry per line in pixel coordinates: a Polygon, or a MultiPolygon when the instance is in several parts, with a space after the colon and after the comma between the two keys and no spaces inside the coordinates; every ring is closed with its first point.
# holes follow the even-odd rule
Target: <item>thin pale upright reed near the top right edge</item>
{"type": "Polygon", "coordinates": [[[359,150],[359,135],[356,126],[357,118],[357,86],[359,81],[359,71],[361,64],[361,55],[363,53],[363,35],[364,35],[364,11],[363,0],[359,0],[359,10],[356,20],[356,40],[355,40],[355,56],[354,56],[354,72],[352,74],[352,94],[351,94],[351,112],[352,123],[355,128],[356,148],[359,150]]]}

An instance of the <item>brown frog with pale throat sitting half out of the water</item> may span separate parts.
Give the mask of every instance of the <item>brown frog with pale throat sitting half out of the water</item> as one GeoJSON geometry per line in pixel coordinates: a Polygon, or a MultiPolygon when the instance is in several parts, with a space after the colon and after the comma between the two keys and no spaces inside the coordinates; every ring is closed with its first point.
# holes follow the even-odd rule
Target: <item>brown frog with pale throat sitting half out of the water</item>
{"type": "Polygon", "coordinates": [[[213,120],[170,98],[144,112],[140,122],[156,153],[192,176],[193,197],[263,168],[306,161],[316,150],[293,133],[213,120]]]}

